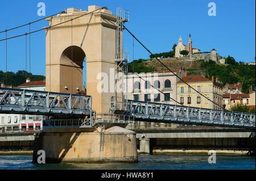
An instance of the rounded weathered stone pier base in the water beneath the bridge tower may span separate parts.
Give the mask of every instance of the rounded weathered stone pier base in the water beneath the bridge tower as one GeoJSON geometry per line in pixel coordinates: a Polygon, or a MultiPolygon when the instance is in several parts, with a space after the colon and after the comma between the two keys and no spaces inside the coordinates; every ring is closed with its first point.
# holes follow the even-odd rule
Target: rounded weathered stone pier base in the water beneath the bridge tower
{"type": "Polygon", "coordinates": [[[104,132],[52,129],[36,138],[34,163],[39,150],[45,151],[46,163],[138,161],[135,132],[121,127],[104,132]]]}

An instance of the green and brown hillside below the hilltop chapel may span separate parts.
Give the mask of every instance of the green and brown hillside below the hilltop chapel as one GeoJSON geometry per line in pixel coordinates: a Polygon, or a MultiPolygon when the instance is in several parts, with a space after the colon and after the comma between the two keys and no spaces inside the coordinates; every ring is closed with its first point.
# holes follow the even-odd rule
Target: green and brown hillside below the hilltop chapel
{"type": "MultiPolygon", "coordinates": [[[[190,61],[188,58],[164,58],[161,60],[170,69],[185,68],[189,75],[203,74],[205,77],[218,77],[224,83],[243,83],[242,91],[247,93],[252,87],[255,89],[255,65],[236,62],[233,57],[226,58],[226,65],[216,64],[214,61],[190,61]]],[[[157,60],[135,60],[129,63],[130,70],[137,73],[166,70],[157,60]]]]}

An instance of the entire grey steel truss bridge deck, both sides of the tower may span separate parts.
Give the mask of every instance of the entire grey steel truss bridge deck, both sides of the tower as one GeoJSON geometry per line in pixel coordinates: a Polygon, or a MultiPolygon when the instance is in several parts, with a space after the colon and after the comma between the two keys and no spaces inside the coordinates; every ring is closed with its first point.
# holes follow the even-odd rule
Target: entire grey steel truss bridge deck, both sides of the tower
{"type": "MultiPolygon", "coordinates": [[[[77,125],[91,127],[92,100],[90,96],[57,92],[0,88],[0,113],[63,116],[61,120],[46,120],[49,126],[77,125]],[[87,115],[78,120],[81,115],[87,115]],[[67,117],[66,117],[67,116],[67,117]],[[76,119],[76,122],[67,121],[76,119]],[[53,122],[52,122],[53,121],[53,122]],[[64,122],[65,124],[62,124],[64,122]],[[70,123],[69,123],[70,122],[70,123]]],[[[207,108],[176,106],[128,100],[126,117],[120,115],[93,116],[93,123],[130,123],[146,121],[255,129],[255,114],[210,110],[207,108]]]]}

